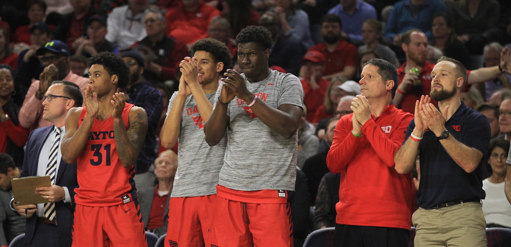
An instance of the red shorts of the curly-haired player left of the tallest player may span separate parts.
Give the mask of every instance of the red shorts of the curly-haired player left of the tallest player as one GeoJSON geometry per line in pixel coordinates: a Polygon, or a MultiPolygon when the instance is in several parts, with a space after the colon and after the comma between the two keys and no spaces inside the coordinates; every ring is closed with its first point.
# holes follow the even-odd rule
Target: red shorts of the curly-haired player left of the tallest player
{"type": "Polygon", "coordinates": [[[209,227],[217,195],[171,197],[165,247],[210,247],[209,227]]]}

